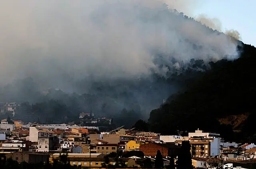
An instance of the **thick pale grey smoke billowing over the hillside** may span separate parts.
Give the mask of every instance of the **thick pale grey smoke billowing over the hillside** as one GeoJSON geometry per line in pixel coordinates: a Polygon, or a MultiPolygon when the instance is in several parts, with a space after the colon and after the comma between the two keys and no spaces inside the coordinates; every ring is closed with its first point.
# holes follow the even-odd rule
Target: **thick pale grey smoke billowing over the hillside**
{"type": "Polygon", "coordinates": [[[166,64],[177,60],[172,65],[177,69],[191,58],[237,57],[228,37],[170,14],[174,8],[189,12],[188,0],[0,2],[0,80],[5,84],[28,76],[62,86],[87,76],[165,74],[167,68],[159,70],[154,63],[157,53],[164,54],[166,64]]]}

